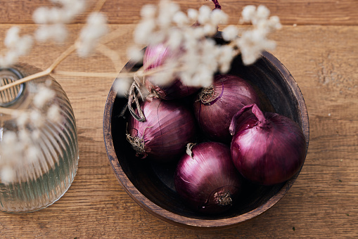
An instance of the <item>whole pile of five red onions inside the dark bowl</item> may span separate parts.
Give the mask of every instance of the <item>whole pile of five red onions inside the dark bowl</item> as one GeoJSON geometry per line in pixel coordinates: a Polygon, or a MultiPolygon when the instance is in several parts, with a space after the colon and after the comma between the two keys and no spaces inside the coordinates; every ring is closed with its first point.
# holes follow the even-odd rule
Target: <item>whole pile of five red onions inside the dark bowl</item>
{"type": "MultiPolygon", "coordinates": [[[[148,46],[144,70],[179,55],[163,44],[148,46]]],[[[244,79],[217,75],[195,101],[186,96],[198,89],[180,79],[165,86],[153,82],[148,75],[146,88],[154,98],[140,105],[145,121],[129,118],[127,140],[138,156],[158,162],[179,160],[174,185],[188,207],[207,214],[225,212],[245,196],[241,176],[273,185],[287,181],[302,167],[306,153],[302,129],[288,117],[263,113],[257,92],[244,79]],[[190,143],[198,144],[187,148],[190,143]]]]}

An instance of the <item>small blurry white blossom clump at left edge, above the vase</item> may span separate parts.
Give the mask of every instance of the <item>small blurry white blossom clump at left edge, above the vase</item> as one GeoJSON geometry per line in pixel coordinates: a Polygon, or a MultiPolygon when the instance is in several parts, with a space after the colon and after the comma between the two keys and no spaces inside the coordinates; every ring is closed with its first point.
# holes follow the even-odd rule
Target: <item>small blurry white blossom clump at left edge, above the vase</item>
{"type": "Polygon", "coordinates": [[[5,56],[0,56],[0,67],[8,67],[18,62],[20,56],[29,53],[32,47],[32,37],[25,35],[20,37],[20,28],[11,27],[6,33],[4,44],[6,49],[5,56]]]}

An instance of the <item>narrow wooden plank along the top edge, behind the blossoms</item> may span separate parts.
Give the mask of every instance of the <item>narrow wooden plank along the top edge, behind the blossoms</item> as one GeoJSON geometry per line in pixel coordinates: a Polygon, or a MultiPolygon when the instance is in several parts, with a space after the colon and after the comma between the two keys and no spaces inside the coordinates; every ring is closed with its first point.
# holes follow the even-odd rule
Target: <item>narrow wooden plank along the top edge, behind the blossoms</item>
{"type": "MultiPolygon", "coordinates": [[[[89,2],[94,2],[93,0],[89,2]]],[[[156,4],[158,0],[114,1],[107,0],[102,11],[108,15],[113,24],[130,24],[140,20],[139,12],[144,4],[156,4]]],[[[202,5],[213,7],[211,1],[177,1],[183,11],[188,8],[198,9],[202,5]]],[[[285,25],[357,25],[357,0],[312,0],[312,1],[236,1],[221,0],[222,9],[229,14],[229,24],[236,24],[243,6],[265,5],[272,15],[278,15],[285,25]]],[[[1,1],[0,23],[31,24],[32,12],[39,6],[53,6],[50,1],[43,0],[12,0],[1,1]]],[[[91,8],[89,8],[91,9],[91,8]]],[[[75,21],[84,22],[85,14],[75,21]]]]}

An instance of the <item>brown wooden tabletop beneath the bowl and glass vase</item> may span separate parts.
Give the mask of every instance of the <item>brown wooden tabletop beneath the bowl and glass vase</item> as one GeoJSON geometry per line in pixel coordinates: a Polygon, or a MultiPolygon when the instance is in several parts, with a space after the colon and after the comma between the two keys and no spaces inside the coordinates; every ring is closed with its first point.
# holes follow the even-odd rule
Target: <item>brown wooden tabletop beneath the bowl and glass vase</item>
{"type": "MultiPolygon", "coordinates": [[[[181,7],[212,7],[210,1],[177,1],[181,7]]],[[[293,187],[259,217],[223,231],[172,226],[136,205],[117,182],[103,143],[103,109],[113,77],[56,75],[77,118],[79,169],[55,204],[30,214],[0,213],[0,238],[357,238],[358,237],[358,1],[219,1],[236,23],[243,6],[264,4],[279,15],[283,29],[272,36],[273,51],[300,86],[309,112],[310,141],[305,165],[293,187]]],[[[101,53],[67,58],[63,71],[117,72],[139,20],[139,9],[154,0],[108,0],[102,10],[110,28],[122,36],[106,46],[119,58],[114,65],[101,53]]],[[[20,25],[36,29],[31,14],[50,1],[1,1],[0,33],[20,25]]],[[[69,25],[68,43],[37,45],[22,61],[48,67],[75,40],[85,14],[69,25]]]]}

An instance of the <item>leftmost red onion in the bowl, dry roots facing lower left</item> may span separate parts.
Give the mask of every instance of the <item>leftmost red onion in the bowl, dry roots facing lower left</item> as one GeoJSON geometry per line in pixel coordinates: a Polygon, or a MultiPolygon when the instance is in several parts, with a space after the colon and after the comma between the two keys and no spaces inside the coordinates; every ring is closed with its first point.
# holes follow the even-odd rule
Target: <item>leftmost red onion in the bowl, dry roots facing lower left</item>
{"type": "Polygon", "coordinates": [[[186,144],[196,138],[191,112],[184,105],[156,98],[142,103],[141,108],[146,121],[139,122],[130,117],[127,128],[130,136],[144,142],[143,152],[137,150],[137,155],[158,162],[178,159],[186,150],[186,144]]]}

